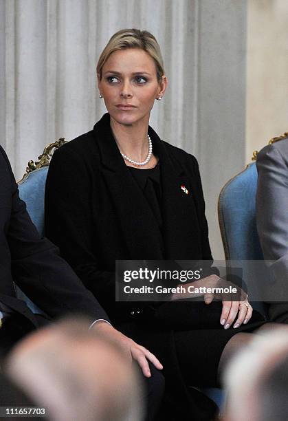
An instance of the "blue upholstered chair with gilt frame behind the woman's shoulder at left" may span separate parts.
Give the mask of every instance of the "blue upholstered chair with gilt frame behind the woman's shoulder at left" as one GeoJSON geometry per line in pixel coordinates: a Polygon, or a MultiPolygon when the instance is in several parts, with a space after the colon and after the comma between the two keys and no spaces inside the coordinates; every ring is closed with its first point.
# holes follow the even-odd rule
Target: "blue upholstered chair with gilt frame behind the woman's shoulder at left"
{"type": "MultiPolygon", "coordinates": [[[[40,235],[44,235],[44,195],[49,160],[52,156],[52,151],[62,146],[64,143],[64,139],[60,138],[58,141],[49,144],[44,149],[42,155],[38,157],[38,162],[28,162],[26,173],[18,183],[19,195],[26,203],[27,211],[40,235]]],[[[43,314],[43,311],[39,309],[17,286],[16,295],[19,299],[22,299],[27,303],[32,312],[36,314],[43,314]]]]}

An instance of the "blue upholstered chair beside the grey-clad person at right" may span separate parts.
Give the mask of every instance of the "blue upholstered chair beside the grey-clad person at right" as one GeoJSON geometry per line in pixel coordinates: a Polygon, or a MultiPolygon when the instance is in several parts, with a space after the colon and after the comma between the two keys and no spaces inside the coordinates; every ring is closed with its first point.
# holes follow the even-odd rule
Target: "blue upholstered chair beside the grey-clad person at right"
{"type": "MultiPolygon", "coordinates": [[[[252,159],[256,159],[256,152],[252,159]]],[[[241,261],[243,278],[248,283],[250,296],[260,296],[261,282],[268,281],[256,228],[257,180],[256,163],[252,162],[223,186],[218,202],[225,259],[241,261]]],[[[262,301],[253,301],[252,307],[262,314],[266,313],[262,301]]]]}

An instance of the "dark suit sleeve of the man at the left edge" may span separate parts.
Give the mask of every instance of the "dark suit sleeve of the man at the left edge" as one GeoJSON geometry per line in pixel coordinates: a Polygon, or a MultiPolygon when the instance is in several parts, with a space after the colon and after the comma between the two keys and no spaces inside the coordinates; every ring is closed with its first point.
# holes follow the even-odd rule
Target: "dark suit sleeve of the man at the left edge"
{"type": "Polygon", "coordinates": [[[19,198],[8,158],[3,149],[0,153],[10,174],[12,207],[6,237],[14,282],[49,316],[79,313],[91,316],[91,321],[109,320],[98,301],[59,256],[58,248],[39,236],[25,203],[19,198]]]}

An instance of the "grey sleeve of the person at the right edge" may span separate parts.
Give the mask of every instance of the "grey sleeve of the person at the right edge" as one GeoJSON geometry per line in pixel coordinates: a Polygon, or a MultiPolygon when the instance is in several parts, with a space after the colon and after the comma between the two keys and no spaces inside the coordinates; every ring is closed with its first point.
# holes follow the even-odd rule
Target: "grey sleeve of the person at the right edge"
{"type": "MultiPolygon", "coordinates": [[[[256,223],[263,256],[279,290],[288,279],[288,140],[265,147],[258,153],[256,223]],[[285,143],[284,143],[285,142],[285,143]],[[283,149],[283,151],[281,151],[283,149]]],[[[274,288],[278,288],[274,284],[274,288]]],[[[288,303],[269,305],[272,321],[288,323],[288,303]]]]}

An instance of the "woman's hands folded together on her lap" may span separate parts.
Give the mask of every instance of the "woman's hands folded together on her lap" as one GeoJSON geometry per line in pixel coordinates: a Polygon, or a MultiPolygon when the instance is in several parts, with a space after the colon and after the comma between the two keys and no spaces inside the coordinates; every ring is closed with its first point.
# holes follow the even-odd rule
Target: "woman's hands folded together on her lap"
{"type": "Polygon", "coordinates": [[[236,319],[236,316],[238,315],[236,321],[234,322],[233,327],[237,328],[243,324],[248,323],[252,317],[253,308],[250,305],[250,303],[247,300],[247,294],[239,286],[234,285],[231,282],[225,281],[225,279],[222,279],[218,277],[215,274],[210,275],[209,277],[199,279],[199,281],[195,281],[192,283],[186,283],[182,284],[182,287],[186,289],[186,292],[180,292],[173,294],[171,300],[179,300],[179,299],[186,299],[186,298],[196,298],[197,296],[203,296],[204,301],[206,304],[212,303],[214,298],[221,299],[223,303],[223,308],[220,316],[220,323],[224,326],[224,329],[228,329],[234,320],[236,319]],[[228,300],[228,294],[214,294],[212,292],[209,293],[197,293],[195,294],[188,292],[188,287],[193,286],[194,288],[228,288],[230,286],[233,286],[233,288],[236,288],[237,297],[239,297],[239,301],[234,300],[228,300]]]}

